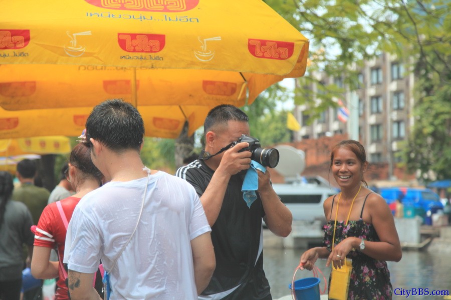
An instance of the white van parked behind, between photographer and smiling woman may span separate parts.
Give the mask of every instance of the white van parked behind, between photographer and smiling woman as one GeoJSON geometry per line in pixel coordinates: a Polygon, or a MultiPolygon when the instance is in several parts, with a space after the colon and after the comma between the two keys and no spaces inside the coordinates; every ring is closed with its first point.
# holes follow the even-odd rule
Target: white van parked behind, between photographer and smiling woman
{"type": "Polygon", "coordinates": [[[293,214],[293,220],[325,221],[323,203],[337,190],[325,184],[274,183],[273,188],[293,214]]]}

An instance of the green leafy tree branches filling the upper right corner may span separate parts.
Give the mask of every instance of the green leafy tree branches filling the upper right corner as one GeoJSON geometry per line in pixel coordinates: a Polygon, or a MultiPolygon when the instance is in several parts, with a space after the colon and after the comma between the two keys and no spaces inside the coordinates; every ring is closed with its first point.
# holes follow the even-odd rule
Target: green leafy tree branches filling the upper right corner
{"type": "Polygon", "coordinates": [[[451,14],[447,0],[265,0],[310,39],[307,74],[295,101],[313,117],[343,90],[324,85],[317,70],[354,90],[356,66],[381,51],[396,54],[415,75],[414,124],[403,151],[407,169],[431,180],[450,178],[451,14]],[[317,82],[314,102],[303,88],[317,82]],[[431,174],[433,176],[431,176],[431,174]]]}

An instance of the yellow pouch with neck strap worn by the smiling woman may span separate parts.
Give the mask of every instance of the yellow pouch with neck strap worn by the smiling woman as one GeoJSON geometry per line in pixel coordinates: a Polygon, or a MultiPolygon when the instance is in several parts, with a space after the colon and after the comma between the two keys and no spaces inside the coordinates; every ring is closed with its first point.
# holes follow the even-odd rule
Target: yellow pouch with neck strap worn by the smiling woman
{"type": "MultiPolygon", "coordinates": [[[[362,185],[360,185],[360,188],[362,185]]],[[[360,192],[360,188],[355,194],[351,202],[351,207],[349,208],[348,217],[346,218],[345,226],[348,225],[349,215],[351,214],[352,205],[354,200],[360,192]]],[[[334,224],[334,235],[332,237],[332,250],[334,249],[335,242],[335,229],[337,228],[337,216],[338,216],[338,205],[340,204],[341,193],[338,196],[337,201],[337,211],[335,212],[335,224],[334,224]]],[[[330,284],[329,284],[329,299],[334,300],[347,300],[349,291],[349,281],[351,280],[352,271],[352,259],[345,258],[344,263],[341,268],[335,268],[332,263],[332,270],[330,272],[330,284]]]]}

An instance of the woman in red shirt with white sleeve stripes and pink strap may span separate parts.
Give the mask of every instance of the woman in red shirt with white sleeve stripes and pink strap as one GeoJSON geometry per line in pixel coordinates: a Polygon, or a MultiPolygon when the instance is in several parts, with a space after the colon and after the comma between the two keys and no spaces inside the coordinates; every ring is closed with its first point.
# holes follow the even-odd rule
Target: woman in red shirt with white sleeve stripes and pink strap
{"type": "MultiPolygon", "coordinates": [[[[91,149],[86,143],[77,144],[69,156],[65,176],[75,190],[73,196],[57,202],[52,202],[44,208],[35,233],[32,274],[35,278],[58,278],[55,298],[69,299],[69,289],[66,284],[67,271],[63,266],[64,245],[66,240],[66,226],[71,219],[75,206],[80,199],[98,188],[102,182],[102,173],[91,161],[91,149]],[[64,213],[64,215],[62,214],[64,213]],[[58,261],[49,261],[51,249],[57,247],[58,261]]],[[[101,289],[101,278],[100,288],[101,289]]]]}

